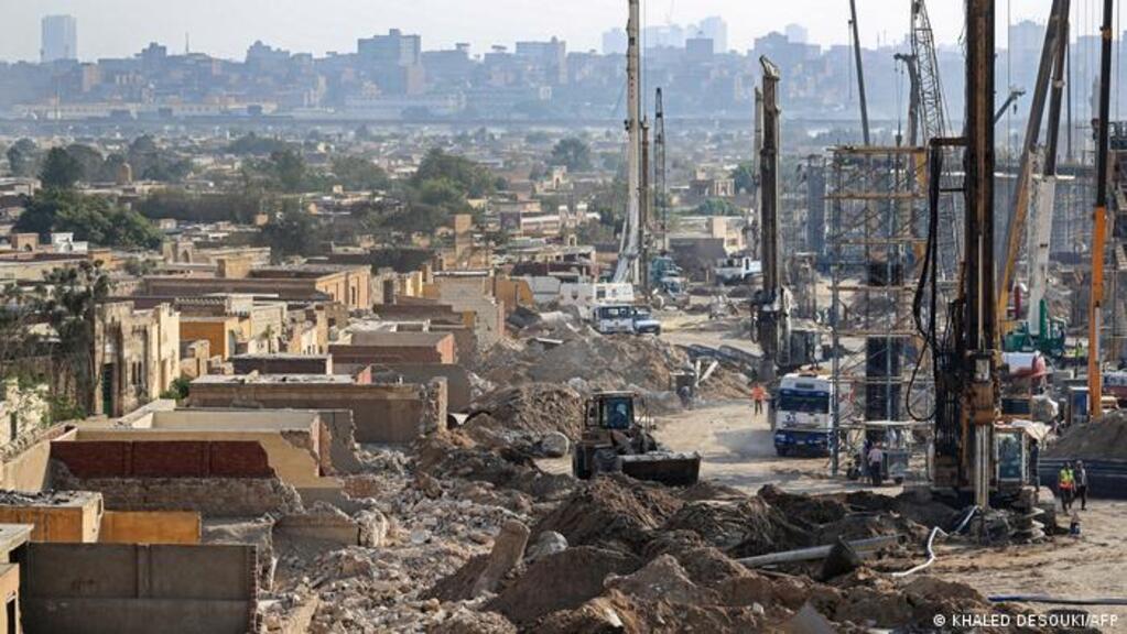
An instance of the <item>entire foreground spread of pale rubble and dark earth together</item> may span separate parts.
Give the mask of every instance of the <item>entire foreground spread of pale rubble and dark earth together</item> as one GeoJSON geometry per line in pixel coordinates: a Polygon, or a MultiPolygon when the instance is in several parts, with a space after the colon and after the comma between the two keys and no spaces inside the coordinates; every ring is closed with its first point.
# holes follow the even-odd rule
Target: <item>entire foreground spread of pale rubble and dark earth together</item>
{"type": "Polygon", "coordinates": [[[950,528],[959,515],[906,495],[576,482],[465,430],[421,439],[410,457],[371,449],[361,462],[344,477],[349,504],[309,511],[356,521],[358,544],[283,533],[267,545],[277,562],[268,632],[746,632],[795,619],[862,632],[1000,609],[962,584],[888,574],[922,559],[932,523],[950,528]],[[890,532],[913,546],[843,571],[736,561],[890,532]]]}

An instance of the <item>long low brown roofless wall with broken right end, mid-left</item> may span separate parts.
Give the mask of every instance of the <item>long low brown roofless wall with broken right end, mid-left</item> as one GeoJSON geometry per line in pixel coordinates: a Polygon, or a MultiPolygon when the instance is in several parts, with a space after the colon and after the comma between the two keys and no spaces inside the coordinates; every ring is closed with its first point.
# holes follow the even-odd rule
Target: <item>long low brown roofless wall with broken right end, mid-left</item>
{"type": "Polygon", "coordinates": [[[193,408],[349,410],[357,443],[410,443],[445,423],[427,408],[433,392],[446,386],[355,385],[328,383],[194,383],[193,408]]]}

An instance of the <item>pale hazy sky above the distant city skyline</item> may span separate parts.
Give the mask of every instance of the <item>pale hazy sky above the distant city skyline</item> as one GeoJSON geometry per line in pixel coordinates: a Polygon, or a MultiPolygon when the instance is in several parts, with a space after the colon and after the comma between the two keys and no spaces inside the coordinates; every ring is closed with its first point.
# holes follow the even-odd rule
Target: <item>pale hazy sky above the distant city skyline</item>
{"type": "MultiPolygon", "coordinates": [[[[911,0],[857,0],[866,46],[899,39],[911,0]]],[[[1073,0],[1074,24],[1092,32],[1095,0],[1073,0]]],[[[1049,0],[999,0],[999,45],[1006,12],[1013,21],[1044,21],[1049,0]]],[[[718,15],[728,21],[729,47],[747,50],[755,37],[800,23],[822,44],[849,39],[848,0],[642,0],[645,23],[689,24],[718,15]]],[[[961,32],[962,2],[931,0],[941,42],[961,32]]],[[[149,42],[242,59],[255,39],[295,52],[350,52],[356,38],[398,27],[423,35],[424,48],[470,42],[481,53],[492,44],[558,36],[570,50],[597,48],[602,33],[625,24],[625,0],[0,0],[0,60],[37,60],[39,19],[78,17],[83,60],[127,56],[149,42]]],[[[1117,29],[1118,30],[1118,29],[1117,29]]]]}

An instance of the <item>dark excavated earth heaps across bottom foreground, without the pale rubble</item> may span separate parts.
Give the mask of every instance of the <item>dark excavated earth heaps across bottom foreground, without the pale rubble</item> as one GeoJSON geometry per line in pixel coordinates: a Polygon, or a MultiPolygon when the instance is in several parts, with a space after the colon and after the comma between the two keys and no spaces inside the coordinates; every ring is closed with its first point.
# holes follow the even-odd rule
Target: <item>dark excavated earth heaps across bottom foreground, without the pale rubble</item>
{"type": "MultiPolygon", "coordinates": [[[[896,581],[863,565],[835,574],[801,566],[749,570],[735,557],[849,534],[855,527],[841,524],[854,508],[846,499],[773,490],[738,499],[716,489],[719,499],[707,499],[707,489],[678,491],[622,476],[580,485],[531,529],[504,527],[488,554],[425,592],[449,615],[433,631],[748,632],[796,619],[836,632],[925,631],[935,614],[1005,609],[967,586],[925,575],[896,581]],[[792,512],[804,500],[808,510],[792,512]]],[[[915,535],[925,532],[895,511],[868,514],[879,520],[873,526],[893,521],[915,535]]],[[[891,551],[897,568],[919,556],[891,551]]]]}

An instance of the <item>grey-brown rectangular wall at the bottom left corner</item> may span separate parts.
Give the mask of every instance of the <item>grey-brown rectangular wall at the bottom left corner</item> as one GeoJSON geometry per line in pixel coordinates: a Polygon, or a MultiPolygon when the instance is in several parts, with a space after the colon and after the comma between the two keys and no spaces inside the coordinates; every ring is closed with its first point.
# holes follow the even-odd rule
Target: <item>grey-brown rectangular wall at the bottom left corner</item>
{"type": "Polygon", "coordinates": [[[28,544],[28,634],[257,631],[254,546],[28,544]]]}

